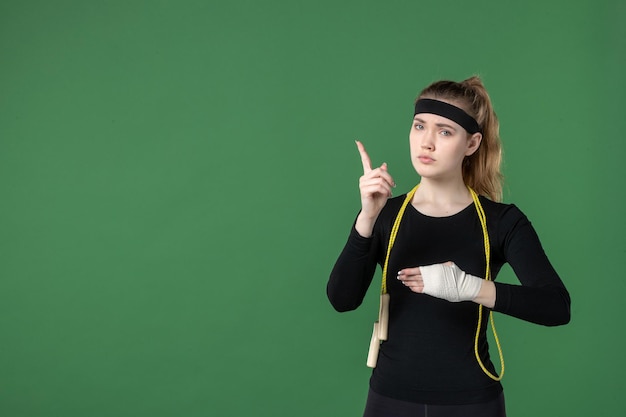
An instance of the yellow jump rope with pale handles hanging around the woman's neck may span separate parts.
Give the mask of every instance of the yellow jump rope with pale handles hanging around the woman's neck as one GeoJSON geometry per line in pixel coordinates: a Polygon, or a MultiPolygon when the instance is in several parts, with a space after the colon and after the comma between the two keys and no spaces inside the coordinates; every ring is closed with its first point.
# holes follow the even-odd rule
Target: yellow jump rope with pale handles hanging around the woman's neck
{"type": "MultiPolygon", "coordinates": [[[[398,234],[398,230],[400,228],[400,222],[402,221],[402,216],[404,215],[404,211],[406,207],[409,205],[411,200],[413,199],[413,195],[415,191],[417,191],[419,184],[416,185],[409,193],[406,195],[402,206],[400,207],[400,211],[396,216],[396,219],[393,222],[393,227],[391,228],[391,235],[389,236],[389,244],[387,245],[387,254],[385,256],[385,263],[383,264],[383,273],[382,273],[382,285],[381,285],[381,295],[380,295],[380,308],[378,310],[378,321],[374,323],[374,331],[372,332],[372,339],[370,341],[370,348],[367,355],[367,366],[370,368],[376,367],[376,362],[378,360],[378,351],[380,349],[380,344],[382,341],[387,340],[388,336],[388,326],[389,326],[389,293],[387,292],[387,266],[389,265],[389,257],[391,255],[391,249],[393,248],[393,244],[396,241],[396,236],[398,234]]],[[[491,250],[489,245],[489,233],[487,232],[487,217],[485,216],[485,211],[483,210],[483,206],[480,204],[480,200],[478,195],[474,190],[468,187],[470,194],[472,195],[472,200],[474,200],[474,207],[476,208],[476,212],[478,213],[478,218],[480,220],[480,225],[483,231],[483,242],[485,245],[485,258],[486,258],[486,269],[485,269],[485,280],[491,280],[491,268],[490,268],[490,260],[491,260],[491,250]]],[[[480,365],[481,369],[487,376],[494,381],[500,381],[504,376],[504,356],[502,354],[502,346],[500,345],[500,339],[498,338],[498,333],[496,332],[496,326],[493,319],[493,312],[489,312],[489,321],[491,322],[491,329],[493,331],[493,337],[496,342],[496,346],[498,348],[498,354],[500,356],[500,375],[492,374],[483,364],[480,359],[480,355],[478,353],[478,339],[480,337],[480,328],[483,320],[483,306],[482,304],[478,305],[478,324],[476,325],[476,335],[474,337],[474,355],[476,356],[476,360],[480,365]]]]}

